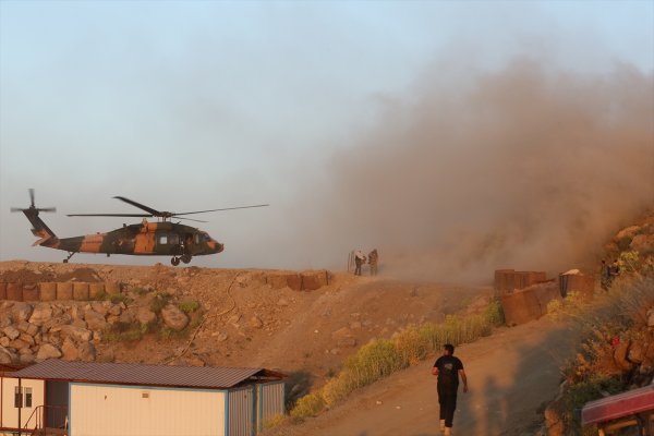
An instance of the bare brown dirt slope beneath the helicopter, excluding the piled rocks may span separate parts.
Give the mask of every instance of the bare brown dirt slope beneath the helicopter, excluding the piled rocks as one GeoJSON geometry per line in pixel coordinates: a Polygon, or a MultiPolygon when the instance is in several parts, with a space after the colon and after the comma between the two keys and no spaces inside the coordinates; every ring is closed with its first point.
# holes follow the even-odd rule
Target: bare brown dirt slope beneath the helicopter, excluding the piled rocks
{"type": "Polygon", "coordinates": [[[412,283],[392,278],[331,272],[329,284],[314,291],[276,289],[261,269],[174,268],[88,264],[0,263],[4,281],[118,281],[136,305],[156,292],[175,301],[198,301],[206,311],[197,331],[137,342],[96,344],[98,360],[215,366],[263,366],[302,372],[320,385],[342,361],[374,337],[390,337],[412,323],[439,322],[467,308],[489,288],[412,283]],[[147,290],[137,296],[133,290],[147,290]],[[131,291],[132,290],[132,291],[131,291]],[[187,352],[179,355],[195,334],[187,352]]]}

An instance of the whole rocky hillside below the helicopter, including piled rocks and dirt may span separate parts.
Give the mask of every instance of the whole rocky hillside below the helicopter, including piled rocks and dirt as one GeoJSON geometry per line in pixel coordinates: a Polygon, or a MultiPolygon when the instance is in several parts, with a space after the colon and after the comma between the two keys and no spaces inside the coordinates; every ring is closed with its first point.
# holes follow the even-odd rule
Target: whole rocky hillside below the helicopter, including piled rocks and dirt
{"type": "Polygon", "coordinates": [[[11,283],[5,299],[10,288],[22,287],[20,299],[34,300],[0,302],[0,362],[61,358],[264,366],[301,372],[317,384],[371,338],[474,310],[492,294],[491,288],[324,270],[20,261],[0,263],[0,283],[11,283]],[[90,283],[92,291],[60,300],[63,283],[75,290],[90,283]],[[94,283],[106,287],[93,291],[94,283]],[[57,289],[55,300],[45,296],[48,284],[57,289]]]}

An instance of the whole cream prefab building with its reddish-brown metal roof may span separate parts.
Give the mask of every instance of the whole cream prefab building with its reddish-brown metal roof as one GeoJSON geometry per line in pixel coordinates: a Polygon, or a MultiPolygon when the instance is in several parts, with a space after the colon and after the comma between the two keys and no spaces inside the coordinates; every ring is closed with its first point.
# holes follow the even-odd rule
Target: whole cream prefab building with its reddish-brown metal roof
{"type": "MultiPolygon", "coordinates": [[[[44,414],[29,429],[68,425],[69,436],[253,436],[264,419],[283,411],[286,376],[265,368],[51,359],[12,377],[24,386],[40,384],[32,398],[34,407],[45,400],[44,414]]],[[[2,387],[4,403],[13,405],[12,392],[2,387]]],[[[0,432],[13,428],[0,425],[0,432]]]]}

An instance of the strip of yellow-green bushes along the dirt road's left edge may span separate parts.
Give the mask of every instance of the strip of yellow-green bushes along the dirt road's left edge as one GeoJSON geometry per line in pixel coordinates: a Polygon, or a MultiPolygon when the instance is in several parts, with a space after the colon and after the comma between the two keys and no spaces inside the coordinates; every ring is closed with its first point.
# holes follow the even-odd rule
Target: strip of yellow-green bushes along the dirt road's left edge
{"type": "Polygon", "coordinates": [[[504,323],[499,302],[492,302],[481,314],[448,315],[445,323],[409,326],[391,339],[376,339],[348,358],[341,372],[316,392],[302,397],[291,410],[291,417],[314,416],[326,407],[344,399],[354,389],[416,365],[434,355],[445,343],[472,342],[504,323]]]}

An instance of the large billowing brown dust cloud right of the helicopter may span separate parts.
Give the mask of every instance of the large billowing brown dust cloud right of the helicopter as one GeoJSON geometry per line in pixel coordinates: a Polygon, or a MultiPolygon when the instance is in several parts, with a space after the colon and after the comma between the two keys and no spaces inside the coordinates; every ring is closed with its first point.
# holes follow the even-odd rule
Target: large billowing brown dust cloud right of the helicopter
{"type": "Polygon", "coordinates": [[[341,269],[355,247],[379,249],[387,274],[441,281],[592,268],[654,205],[653,78],[529,58],[468,78],[435,69],[411,97],[379,98],[307,184],[295,230],[341,269]]]}

